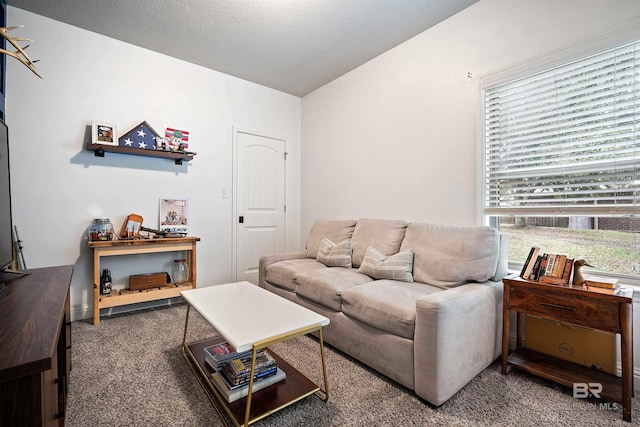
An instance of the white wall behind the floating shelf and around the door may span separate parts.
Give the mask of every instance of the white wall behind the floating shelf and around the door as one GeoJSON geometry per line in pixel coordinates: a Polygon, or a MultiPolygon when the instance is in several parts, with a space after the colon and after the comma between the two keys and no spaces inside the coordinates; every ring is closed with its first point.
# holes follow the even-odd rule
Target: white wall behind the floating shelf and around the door
{"type": "MultiPolygon", "coordinates": [[[[29,268],[75,266],[71,305],[86,317],[92,305],[92,254],[85,231],[93,218],[120,227],[130,213],[158,227],[160,197],[188,197],[190,234],[199,236],[198,286],[232,279],[232,127],[287,140],[287,249],[298,249],[301,100],[225,74],[9,7],[13,35],[28,50],[40,80],[7,59],[7,124],[13,215],[29,268]],[[84,149],[92,120],[122,134],[146,120],[190,131],[191,162],[84,149]],[[88,311],[89,310],[89,311],[88,311]]],[[[170,271],[171,256],[118,260],[114,282],[128,274],[170,271]]],[[[115,262],[115,261],[114,261],[115,262]]],[[[73,316],[72,316],[73,317],[73,316]]]]}

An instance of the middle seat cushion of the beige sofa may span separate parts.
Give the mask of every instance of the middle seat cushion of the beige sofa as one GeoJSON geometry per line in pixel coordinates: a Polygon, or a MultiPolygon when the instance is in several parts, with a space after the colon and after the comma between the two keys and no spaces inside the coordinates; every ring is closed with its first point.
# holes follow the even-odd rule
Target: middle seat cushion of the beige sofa
{"type": "Polygon", "coordinates": [[[335,311],[342,310],[342,292],[372,279],[353,269],[340,267],[299,273],[294,278],[296,295],[309,299],[335,311]]]}

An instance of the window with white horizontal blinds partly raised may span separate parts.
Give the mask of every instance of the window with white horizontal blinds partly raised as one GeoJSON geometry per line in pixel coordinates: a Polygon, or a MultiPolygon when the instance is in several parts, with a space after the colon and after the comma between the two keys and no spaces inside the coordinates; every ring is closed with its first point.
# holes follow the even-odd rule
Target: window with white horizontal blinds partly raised
{"type": "Polygon", "coordinates": [[[640,42],[484,89],[483,208],[531,246],[638,275],[640,42]]]}

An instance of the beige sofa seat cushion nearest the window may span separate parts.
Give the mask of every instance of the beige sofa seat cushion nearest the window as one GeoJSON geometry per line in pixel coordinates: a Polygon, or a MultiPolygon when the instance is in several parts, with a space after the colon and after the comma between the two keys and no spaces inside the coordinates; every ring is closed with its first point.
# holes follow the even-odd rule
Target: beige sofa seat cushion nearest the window
{"type": "Polygon", "coordinates": [[[413,339],[416,301],[442,289],[422,283],[376,280],[342,292],[342,312],[369,326],[413,339]]]}

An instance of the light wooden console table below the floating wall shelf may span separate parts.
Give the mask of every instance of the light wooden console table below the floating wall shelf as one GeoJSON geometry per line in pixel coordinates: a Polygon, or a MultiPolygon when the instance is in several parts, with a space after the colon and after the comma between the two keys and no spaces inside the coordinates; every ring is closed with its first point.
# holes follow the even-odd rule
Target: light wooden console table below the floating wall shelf
{"type": "Polygon", "coordinates": [[[196,242],[199,237],[158,239],[107,240],[89,242],[93,249],[93,324],[100,323],[100,309],[154,301],[180,296],[180,292],[196,287],[196,242]],[[136,255],[158,252],[187,252],[189,280],[179,286],[168,284],[162,288],[139,292],[120,292],[100,295],[100,258],[114,255],[136,255]]]}

